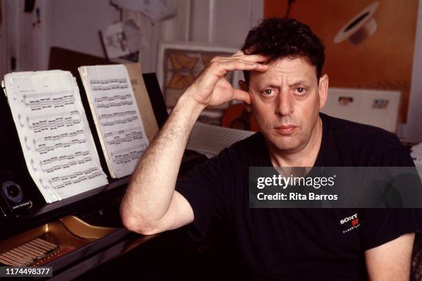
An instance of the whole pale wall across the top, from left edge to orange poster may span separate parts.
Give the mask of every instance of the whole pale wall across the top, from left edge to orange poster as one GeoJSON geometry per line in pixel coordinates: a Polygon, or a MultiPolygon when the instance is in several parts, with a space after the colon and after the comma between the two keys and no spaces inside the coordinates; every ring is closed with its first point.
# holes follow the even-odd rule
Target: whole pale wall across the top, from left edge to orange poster
{"type": "Polygon", "coordinates": [[[17,58],[17,71],[46,70],[51,46],[104,56],[99,30],[122,17],[134,19],[140,26],[144,39],[140,57],[143,71],[155,72],[160,40],[239,47],[250,26],[263,14],[263,0],[177,1],[177,17],[152,24],[141,13],[123,10],[121,14],[110,6],[109,0],[37,0],[41,26],[32,28],[35,12],[23,13],[23,1],[5,0],[8,56],[17,58]]]}

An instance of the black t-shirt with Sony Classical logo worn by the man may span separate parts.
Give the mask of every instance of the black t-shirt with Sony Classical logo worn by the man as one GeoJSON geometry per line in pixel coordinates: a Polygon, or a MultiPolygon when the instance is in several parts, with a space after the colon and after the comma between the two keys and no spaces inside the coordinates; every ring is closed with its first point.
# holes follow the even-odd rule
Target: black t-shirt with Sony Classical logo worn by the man
{"type": "MultiPolygon", "coordinates": [[[[393,134],[320,116],[315,167],[414,166],[393,134]]],[[[365,280],[365,250],[419,230],[413,209],[249,208],[249,167],[272,167],[261,133],[197,165],[176,190],[192,206],[197,233],[205,236],[215,222],[230,226],[244,270],[255,280],[365,280]],[[359,227],[346,231],[340,221],[354,214],[359,227]]]]}

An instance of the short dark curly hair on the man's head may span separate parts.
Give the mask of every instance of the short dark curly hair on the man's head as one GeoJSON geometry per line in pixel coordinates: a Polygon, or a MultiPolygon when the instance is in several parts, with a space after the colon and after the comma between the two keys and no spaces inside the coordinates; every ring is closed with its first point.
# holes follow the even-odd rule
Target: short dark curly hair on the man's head
{"type": "MultiPolygon", "coordinates": [[[[268,56],[268,62],[286,56],[303,56],[316,67],[316,78],[321,78],[325,61],[325,47],[309,26],[295,19],[271,17],[264,19],[249,31],[241,50],[245,54],[268,56]]],[[[243,72],[249,83],[249,72],[243,72]]]]}

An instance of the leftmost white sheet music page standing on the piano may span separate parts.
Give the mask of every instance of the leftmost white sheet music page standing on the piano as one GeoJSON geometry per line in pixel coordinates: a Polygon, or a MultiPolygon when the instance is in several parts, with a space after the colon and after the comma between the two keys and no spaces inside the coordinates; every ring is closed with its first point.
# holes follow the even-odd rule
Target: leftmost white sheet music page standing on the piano
{"type": "Polygon", "coordinates": [[[70,72],[6,74],[5,86],[28,171],[46,202],[108,183],[70,72]]]}

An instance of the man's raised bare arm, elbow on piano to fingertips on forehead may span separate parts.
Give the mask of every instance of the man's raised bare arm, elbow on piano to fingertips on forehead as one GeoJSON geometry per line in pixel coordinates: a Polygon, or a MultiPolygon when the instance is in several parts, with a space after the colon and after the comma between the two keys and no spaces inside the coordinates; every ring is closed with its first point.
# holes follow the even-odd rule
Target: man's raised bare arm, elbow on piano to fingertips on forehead
{"type": "Polygon", "coordinates": [[[174,191],[188,137],[199,114],[208,105],[233,99],[250,104],[248,92],[234,89],[225,78],[233,70],[265,72],[265,56],[243,52],[215,57],[188,87],[161,132],[150,144],[134,171],[121,204],[125,227],[139,233],[157,233],[194,220],[192,206],[174,191]]]}

